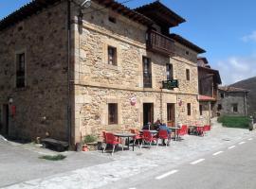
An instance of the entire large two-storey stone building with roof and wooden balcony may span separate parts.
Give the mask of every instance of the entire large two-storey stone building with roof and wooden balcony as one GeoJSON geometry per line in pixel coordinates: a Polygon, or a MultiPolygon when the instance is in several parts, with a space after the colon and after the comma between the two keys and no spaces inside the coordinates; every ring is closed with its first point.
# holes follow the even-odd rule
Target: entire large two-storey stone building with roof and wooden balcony
{"type": "Polygon", "coordinates": [[[35,0],[0,21],[1,133],[74,146],[157,118],[196,122],[205,51],[169,34],[185,20],[158,1],[135,10],[80,3],[35,0]]]}

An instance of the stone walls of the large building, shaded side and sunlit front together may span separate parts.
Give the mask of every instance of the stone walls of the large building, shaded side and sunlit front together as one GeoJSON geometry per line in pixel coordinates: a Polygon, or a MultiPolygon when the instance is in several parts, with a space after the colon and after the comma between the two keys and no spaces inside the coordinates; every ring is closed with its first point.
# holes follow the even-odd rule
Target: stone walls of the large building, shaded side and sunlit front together
{"type": "Polygon", "coordinates": [[[174,42],[172,56],[154,53],[146,46],[147,26],[94,2],[82,11],[81,23],[78,6],[71,4],[70,85],[65,1],[0,31],[2,133],[28,139],[46,137],[47,133],[64,141],[71,135],[70,144],[74,145],[84,135],[100,136],[102,130],[140,129],[145,103],[153,104],[154,121],[169,121],[168,104],[174,108],[175,124],[191,125],[198,121],[197,52],[174,42]],[[110,21],[109,16],[116,18],[116,22],[110,21]],[[117,49],[117,65],[107,63],[108,46],[117,49]],[[15,55],[19,52],[26,54],[23,89],[14,85],[15,55]],[[143,57],[151,60],[152,88],[143,86],[143,57]],[[167,80],[166,64],[173,64],[174,79],[179,82],[174,90],[161,89],[162,81],[167,80]],[[190,70],[189,80],[186,70],[190,70]],[[135,106],[131,105],[132,97],[137,100],[135,106]],[[115,125],[108,122],[109,103],[118,104],[115,125]],[[4,110],[6,106],[9,115],[4,110]],[[16,112],[12,115],[13,107],[16,112]],[[7,116],[9,129],[5,133],[7,116]]]}

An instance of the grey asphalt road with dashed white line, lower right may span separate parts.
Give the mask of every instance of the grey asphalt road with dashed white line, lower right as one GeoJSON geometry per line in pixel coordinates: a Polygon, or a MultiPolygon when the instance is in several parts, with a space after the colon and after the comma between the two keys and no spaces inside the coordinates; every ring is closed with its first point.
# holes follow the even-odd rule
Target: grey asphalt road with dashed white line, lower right
{"type": "Polygon", "coordinates": [[[160,171],[120,180],[108,189],[255,189],[255,146],[256,138],[250,138],[177,167],[167,164],[160,171]]]}

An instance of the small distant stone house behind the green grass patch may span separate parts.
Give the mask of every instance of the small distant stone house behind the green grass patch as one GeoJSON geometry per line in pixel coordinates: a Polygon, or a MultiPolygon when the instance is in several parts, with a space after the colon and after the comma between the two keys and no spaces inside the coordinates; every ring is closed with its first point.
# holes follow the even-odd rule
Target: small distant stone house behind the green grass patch
{"type": "Polygon", "coordinates": [[[242,115],[247,116],[246,89],[235,87],[219,87],[217,110],[219,115],[242,115]]]}

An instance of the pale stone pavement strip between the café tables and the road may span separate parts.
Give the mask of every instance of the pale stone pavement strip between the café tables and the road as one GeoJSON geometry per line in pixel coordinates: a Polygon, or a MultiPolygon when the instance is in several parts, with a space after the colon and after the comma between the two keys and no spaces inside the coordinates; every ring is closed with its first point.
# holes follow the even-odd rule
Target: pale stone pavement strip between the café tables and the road
{"type": "Polygon", "coordinates": [[[243,139],[255,136],[255,131],[247,129],[227,129],[214,122],[212,129],[204,137],[187,135],[181,141],[172,141],[171,146],[138,148],[135,151],[118,151],[113,156],[99,151],[82,152],[108,158],[109,163],[64,172],[37,180],[28,180],[7,187],[8,189],[68,188],[93,189],[112,182],[141,174],[151,169],[169,164],[177,166],[194,160],[225,146],[231,146],[243,139]],[[100,154],[99,154],[100,153],[100,154]]]}

